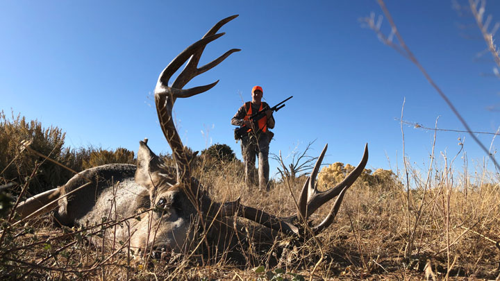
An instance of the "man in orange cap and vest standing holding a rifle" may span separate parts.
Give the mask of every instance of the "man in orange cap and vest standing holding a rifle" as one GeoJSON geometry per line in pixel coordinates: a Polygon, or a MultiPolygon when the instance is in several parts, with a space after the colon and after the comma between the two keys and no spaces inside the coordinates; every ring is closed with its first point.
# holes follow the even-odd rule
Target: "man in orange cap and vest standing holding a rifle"
{"type": "Polygon", "coordinates": [[[252,100],[244,103],[236,112],[231,124],[235,126],[245,126],[248,128],[247,134],[241,139],[242,155],[245,169],[245,183],[247,186],[253,185],[253,170],[255,169],[256,156],[258,157],[258,178],[260,190],[269,190],[269,142],[272,133],[269,129],[274,128],[274,117],[272,110],[267,110],[265,116],[257,121],[249,120],[252,114],[269,108],[267,103],[262,101],[263,89],[260,86],[252,88],[252,100]]]}

